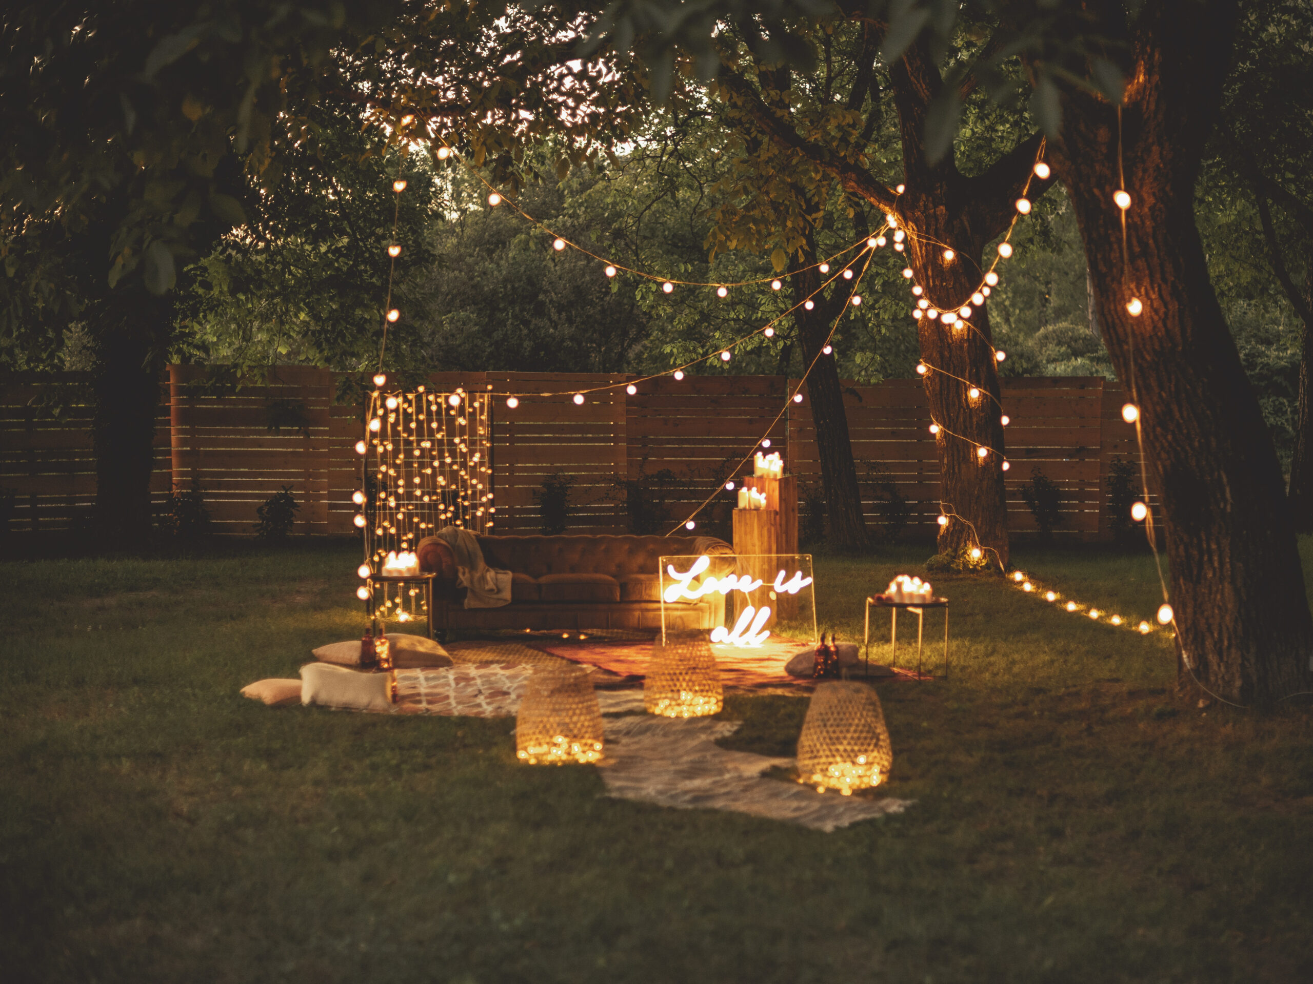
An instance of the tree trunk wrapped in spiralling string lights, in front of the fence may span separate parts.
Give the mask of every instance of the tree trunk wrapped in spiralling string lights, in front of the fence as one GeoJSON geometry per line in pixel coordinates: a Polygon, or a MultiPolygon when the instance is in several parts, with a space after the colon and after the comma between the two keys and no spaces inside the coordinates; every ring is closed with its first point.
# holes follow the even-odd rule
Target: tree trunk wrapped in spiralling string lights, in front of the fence
{"type": "Polygon", "coordinates": [[[939,529],[939,552],[956,555],[979,546],[1006,569],[1010,559],[1007,499],[1003,488],[1003,424],[998,363],[991,344],[989,308],[972,293],[981,285],[985,243],[968,219],[943,205],[941,190],[913,190],[901,209],[907,236],[907,262],[930,310],[972,308],[966,323],[944,325],[940,319],[918,323],[926,400],[939,425],[940,509],[948,522],[939,529]],[[944,244],[953,258],[944,256],[944,244]],[[979,396],[970,398],[972,388],[979,396]],[[982,457],[979,449],[986,449],[982,457]]]}

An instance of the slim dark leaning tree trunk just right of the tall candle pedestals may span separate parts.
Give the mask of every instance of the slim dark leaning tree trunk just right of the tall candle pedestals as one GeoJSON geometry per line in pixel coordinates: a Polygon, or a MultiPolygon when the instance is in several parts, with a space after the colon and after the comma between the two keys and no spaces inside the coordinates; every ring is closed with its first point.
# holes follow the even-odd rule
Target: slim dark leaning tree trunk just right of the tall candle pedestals
{"type": "Polygon", "coordinates": [[[802,366],[811,366],[807,374],[807,401],[811,404],[817,457],[821,459],[821,487],[825,489],[826,516],[830,521],[829,539],[831,546],[857,554],[871,548],[871,537],[861,509],[861,485],[848,437],[848,412],[843,405],[839,369],[832,354],[822,353],[835,319],[848,303],[848,293],[832,287],[829,299],[817,293],[822,281],[814,266],[815,247],[810,236],[807,251],[804,264],[790,261],[789,283],[794,304],[802,304],[814,295],[815,307],[811,311],[800,307],[793,318],[802,342],[802,366]]]}

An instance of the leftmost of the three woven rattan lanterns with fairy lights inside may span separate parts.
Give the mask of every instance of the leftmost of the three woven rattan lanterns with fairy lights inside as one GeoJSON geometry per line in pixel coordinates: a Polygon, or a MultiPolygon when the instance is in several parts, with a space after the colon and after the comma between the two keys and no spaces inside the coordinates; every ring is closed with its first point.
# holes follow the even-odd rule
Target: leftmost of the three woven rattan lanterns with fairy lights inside
{"type": "Polygon", "coordinates": [[[515,748],[529,765],[601,758],[601,708],[583,666],[571,663],[533,672],[515,719],[515,748]]]}

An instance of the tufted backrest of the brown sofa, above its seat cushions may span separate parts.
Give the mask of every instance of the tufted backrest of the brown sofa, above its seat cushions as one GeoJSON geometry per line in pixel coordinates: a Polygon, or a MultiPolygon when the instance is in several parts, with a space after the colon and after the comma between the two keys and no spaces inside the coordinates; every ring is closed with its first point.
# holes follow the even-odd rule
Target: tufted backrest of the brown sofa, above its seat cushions
{"type": "Polygon", "coordinates": [[[479,537],[488,567],[542,577],[603,573],[620,580],[655,575],[656,559],[681,554],[733,554],[716,537],[479,537]]]}

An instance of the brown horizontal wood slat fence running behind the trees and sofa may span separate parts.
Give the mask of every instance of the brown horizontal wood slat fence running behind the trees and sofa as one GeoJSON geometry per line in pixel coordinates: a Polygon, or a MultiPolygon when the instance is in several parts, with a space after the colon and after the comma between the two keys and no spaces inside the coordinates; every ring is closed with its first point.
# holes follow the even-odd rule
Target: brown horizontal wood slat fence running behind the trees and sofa
{"type": "MultiPolygon", "coordinates": [[[[343,374],[305,366],[269,370],[263,386],[218,384],[204,367],[171,366],[161,382],[151,493],[167,504],[171,488],[197,487],[221,533],[249,534],[256,508],[284,487],[301,502],[297,533],[347,534],[358,487],[361,408],[341,401],[343,374]]],[[[788,404],[796,380],[784,377],[670,377],[571,395],[624,375],[435,373],[427,386],[527,394],[509,409],[494,404],[492,464],[499,533],[541,526],[534,492],[551,474],[572,480],[570,529],[618,533],[635,488],[654,504],[643,516],[671,525],[713,489],[744,472],[756,441],[771,438],[804,493],[819,488],[810,405],[788,404]],[[551,395],[537,395],[551,394],[551,395]],[[655,518],[653,518],[655,517],[655,518]]],[[[1107,479],[1116,455],[1138,462],[1134,428],[1121,420],[1121,387],[1100,378],[1016,378],[1003,384],[1010,526],[1036,529],[1018,488],[1040,467],[1062,491],[1057,535],[1108,535],[1107,479]]],[[[868,520],[881,521],[880,489],[909,502],[906,535],[930,537],[939,516],[935,438],[919,380],[844,384],[844,404],[868,520]]],[[[96,493],[85,374],[0,375],[0,489],[12,489],[12,530],[70,529],[87,517],[96,493]]],[[[750,467],[750,464],[748,464],[750,467]]],[[[722,491],[700,517],[727,527],[733,493],[722,491]]],[[[630,502],[633,506],[633,502],[630,502]]],[[[641,522],[641,517],[638,518],[641,522]]]]}

